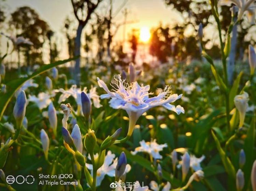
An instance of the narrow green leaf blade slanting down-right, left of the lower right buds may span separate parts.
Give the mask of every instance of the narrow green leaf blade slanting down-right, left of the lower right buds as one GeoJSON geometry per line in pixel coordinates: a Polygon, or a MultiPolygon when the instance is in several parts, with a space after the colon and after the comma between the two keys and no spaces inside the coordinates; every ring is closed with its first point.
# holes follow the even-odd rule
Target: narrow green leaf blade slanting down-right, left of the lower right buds
{"type": "Polygon", "coordinates": [[[214,132],[212,131],[212,136],[215,140],[216,143],[216,147],[218,149],[219,155],[221,156],[221,160],[223,163],[223,166],[226,170],[226,172],[228,173],[228,175],[235,180],[236,179],[236,171],[234,169],[233,164],[231,163],[230,159],[228,158],[228,156],[226,155],[226,153],[224,152],[224,150],[221,147],[221,143],[219,143],[218,138],[215,136],[214,132]]]}

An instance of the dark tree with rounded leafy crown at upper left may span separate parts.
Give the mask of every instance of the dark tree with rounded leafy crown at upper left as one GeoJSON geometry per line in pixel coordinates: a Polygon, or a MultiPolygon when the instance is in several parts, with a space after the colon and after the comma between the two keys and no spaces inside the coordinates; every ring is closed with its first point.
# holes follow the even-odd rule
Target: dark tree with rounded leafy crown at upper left
{"type": "Polygon", "coordinates": [[[28,6],[17,8],[9,21],[11,29],[16,33],[16,37],[23,36],[33,42],[33,46],[21,45],[18,50],[25,52],[27,65],[42,61],[42,47],[46,34],[49,31],[48,24],[40,19],[38,13],[28,6]]]}

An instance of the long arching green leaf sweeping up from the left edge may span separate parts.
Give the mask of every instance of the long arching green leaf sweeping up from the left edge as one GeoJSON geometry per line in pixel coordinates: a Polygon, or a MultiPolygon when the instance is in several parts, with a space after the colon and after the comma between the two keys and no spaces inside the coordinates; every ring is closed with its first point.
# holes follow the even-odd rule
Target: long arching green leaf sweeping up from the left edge
{"type": "Polygon", "coordinates": [[[1,95],[1,102],[0,102],[0,120],[2,119],[3,113],[8,105],[8,103],[11,101],[14,93],[20,88],[22,87],[22,85],[32,79],[35,76],[38,76],[44,72],[46,72],[49,69],[52,69],[56,66],[59,66],[61,64],[65,64],[67,62],[70,62],[72,60],[75,60],[76,58],[78,58],[78,56],[74,57],[74,58],[70,58],[70,59],[66,59],[66,60],[60,60],[57,61],[55,63],[52,64],[46,64],[44,66],[42,66],[41,68],[39,68],[37,71],[35,71],[33,74],[31,74],[28,77],[22,77],[22,78],[18,78],[15,80],[12,80],[11,82],[6,84],[6,93],[1,95]]]}

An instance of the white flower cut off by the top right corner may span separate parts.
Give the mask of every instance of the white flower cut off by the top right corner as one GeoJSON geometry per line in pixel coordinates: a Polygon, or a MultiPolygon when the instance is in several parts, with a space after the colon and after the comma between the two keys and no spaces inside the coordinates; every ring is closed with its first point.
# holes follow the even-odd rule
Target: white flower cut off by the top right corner
{"type": "Polygon", "coordinates": [[[235,4],[239,8],[237,20],[241,20],[244,13],[246,13],[247,19],[251,24],[255,23],[255,0],[219,0],[219,5],[231,5],[235,4]]]}

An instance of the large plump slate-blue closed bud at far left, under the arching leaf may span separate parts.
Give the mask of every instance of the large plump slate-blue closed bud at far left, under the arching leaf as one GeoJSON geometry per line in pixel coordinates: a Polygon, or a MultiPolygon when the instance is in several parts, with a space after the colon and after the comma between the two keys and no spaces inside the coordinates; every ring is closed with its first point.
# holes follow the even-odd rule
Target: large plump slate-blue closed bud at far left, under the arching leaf
{"type": "Polygon", "coordinates": [[[17,129],[19,129],[22,125],[22,121],[25,117],[26,113],[26,104],[27,104],[27,98],[25,91],[20,91],[16,100],[16,103],[13,108],[13,115],[16,120],[17,129]]]}

